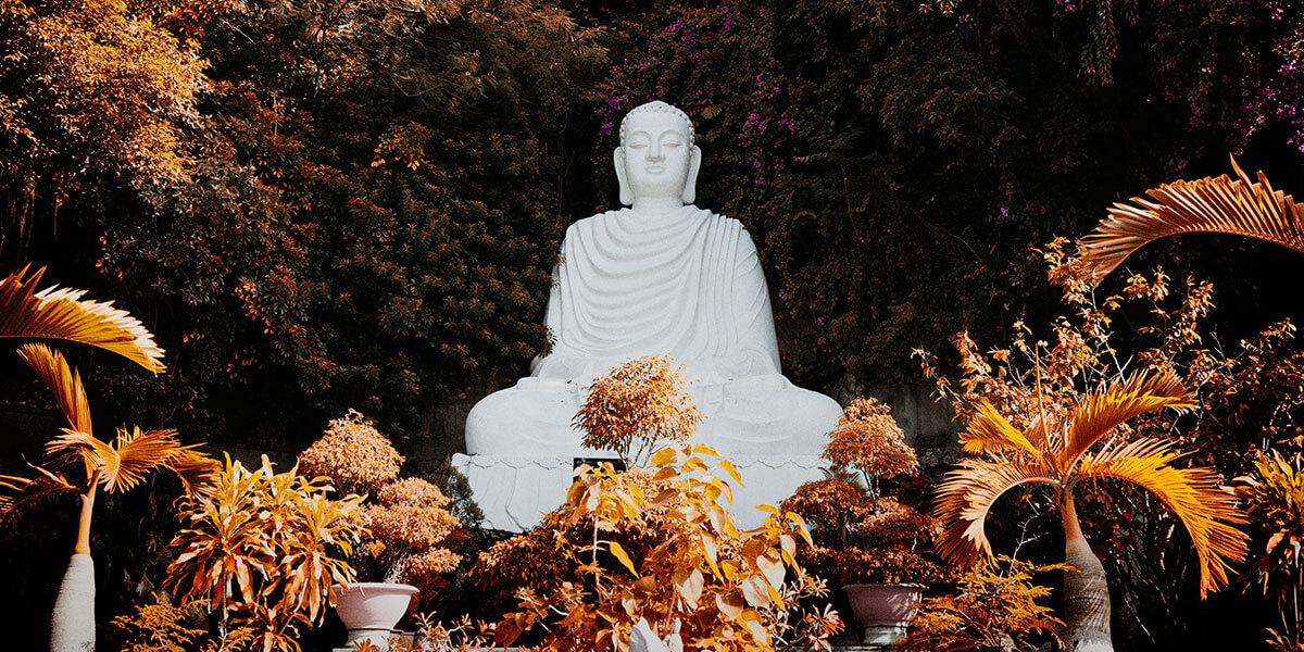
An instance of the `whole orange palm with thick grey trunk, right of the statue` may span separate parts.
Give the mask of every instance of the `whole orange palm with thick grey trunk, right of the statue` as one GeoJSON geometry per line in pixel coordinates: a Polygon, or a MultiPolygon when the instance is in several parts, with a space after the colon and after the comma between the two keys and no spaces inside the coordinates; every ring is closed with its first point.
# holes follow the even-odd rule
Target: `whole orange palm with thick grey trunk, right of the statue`
{"type": "Polygon", "coordinates": [[[1245,535],[1234,524],[1245,519],[1222,479],[1209,468],[1175,467],[1181,452],[1168,441],[1118,437],[1136,416],[1196,406],[1176,376],[1136,373],[1071,406],[1037,398],[1039,411],[1022,430],[987,400],[970,416],[960,441],[977,456],[947,473],[936,494],[943,556],[961,565],[990,559],[983,527],[996,499],[1026,484],[1050,486],[1064,524],[1064,562],[1080,571],[1064,578],[1064,638],[1073,651],[1112,651],[1104,567],[1082,535],[1073,497],[1088,481],[1115,479],[1154,493],[1185,526],[1200,557],[1201,596],[1227,584],[1228,562],[1245,556],[1245,535]]]}

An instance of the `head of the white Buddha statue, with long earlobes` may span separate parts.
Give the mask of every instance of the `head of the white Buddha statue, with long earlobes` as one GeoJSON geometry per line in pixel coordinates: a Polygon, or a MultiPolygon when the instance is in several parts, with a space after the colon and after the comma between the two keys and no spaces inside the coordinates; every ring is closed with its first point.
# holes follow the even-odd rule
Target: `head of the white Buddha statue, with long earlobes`
{"type": "Polygon", "coordinates": [[[665,102],[635,107],[621,120],[615,147],[621,203],[692,203],[698,193],[702,150],[692,143],[692,121],[665,102]]]}

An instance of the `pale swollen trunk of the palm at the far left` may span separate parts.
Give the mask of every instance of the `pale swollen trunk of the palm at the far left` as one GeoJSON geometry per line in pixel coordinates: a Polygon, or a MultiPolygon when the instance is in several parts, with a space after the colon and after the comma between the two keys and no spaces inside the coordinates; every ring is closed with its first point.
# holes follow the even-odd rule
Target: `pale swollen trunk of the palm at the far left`
{"type": "Polygon", "coordinates": [[[77,545],[55,599],[50,619],[50,652],[95,652],[95,562],[90,558],[90,515],[95,506],[95,480],[82,496],[77,545]]]}

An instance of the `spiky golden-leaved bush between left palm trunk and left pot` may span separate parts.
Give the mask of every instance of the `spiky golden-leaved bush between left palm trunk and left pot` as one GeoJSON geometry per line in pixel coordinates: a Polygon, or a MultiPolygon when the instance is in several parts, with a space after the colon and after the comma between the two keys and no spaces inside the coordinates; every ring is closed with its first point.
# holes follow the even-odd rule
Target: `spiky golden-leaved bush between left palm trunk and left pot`
{"type": "Polygon", "coordinates": [[[223,645],[249,629],[263,652],[297,652],[300,630],[334,604],[331,585],[352,582],[344,559],[364,533],[352,518],[361,498],[333,490],[297,468],[276,473],[266,456],[253,471],[227,456],[211,494],[181,503],[164,585],[220,613],[223,645]]]}

